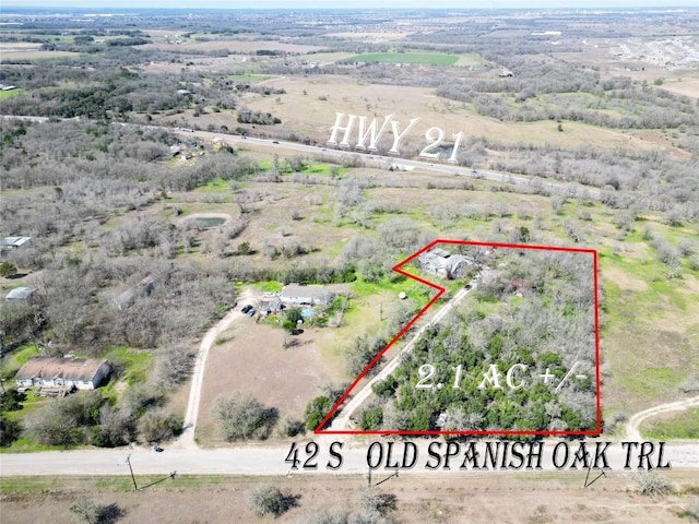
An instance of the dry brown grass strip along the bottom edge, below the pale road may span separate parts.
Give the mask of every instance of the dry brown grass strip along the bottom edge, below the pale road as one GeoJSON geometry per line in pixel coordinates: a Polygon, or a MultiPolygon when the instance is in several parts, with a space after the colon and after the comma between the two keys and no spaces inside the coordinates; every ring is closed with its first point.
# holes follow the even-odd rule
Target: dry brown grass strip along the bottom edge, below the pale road
{"type": "MultiPolygon", "coordinates": [[[[395,496],[391,514],[406,524],[420,522],[488,523],[497,519],[511,524],[557,522],[677,523],[687,505],[685,497],[648,499],[633,492],[628,476],[607,475],[589,488],[584,474],[469,474],[440,479],[435,476],[399,477],[380,488],[395,496]],[[603,484],[604,483],[604,484],[603,484]],[[502,503],[507,499],[507,503],[502,503]]],[[[686,475],[673,475],[678,486],[691,485],[686,475]]],[[[56,479],[59,480],[59,479],[56,479]]],[[[123,512],[119,522],[269,522],[246,508],[245,497],[259,480],[227,477],[176,477],[143,492],[130,491],[127,478],[67,478],[58,483],[27,478],[22,489],[3,488],[5,519],[40,519],[51,514],[57,523],[74,522],[69,507],[88,495],[99,504],[115,504],[123,512]],[[44,491],[42,491],[44,490],[44,491]]],[[[147,479],[141,478],[140,481],[147,479]]],[[[270,478],[296,497],[298,507],[276,519],[280,523],[306,522],[311,514],[336,512],[359,498],[366,480],[342,476],[270,478]]],[[[696,485],[695,485],[696,486],[696,485]]]]}

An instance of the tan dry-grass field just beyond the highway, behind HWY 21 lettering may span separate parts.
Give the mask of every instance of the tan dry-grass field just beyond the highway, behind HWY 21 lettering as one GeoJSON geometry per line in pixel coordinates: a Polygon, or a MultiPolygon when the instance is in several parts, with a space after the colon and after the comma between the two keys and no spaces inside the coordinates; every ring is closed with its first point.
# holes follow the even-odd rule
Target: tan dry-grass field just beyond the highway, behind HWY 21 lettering
{"type": "MultiPolygon", "coordinates": [[[[502,142],[561,147],[577,147],[584,143],[601,148],[660,148],[683,158],[687,156],[660,131],[628,133],[580,122],[564,122],[564,132],[559,132],[556,122],[500,122],[474,115],[467,105],[437,97],[430,88],[357,84],[347,78],[330,75],[322,79],[287,78],[271,81],[269,85],[286,91],[280,97],[281,103],[276,102],[277,97],[248,94],[242,105],[279,117],[283,124],[274,128],[277,131],[293,130],[296,134],[308,135],[321,143],[330,138],[335,114],[343,112],[376,117],[379,121],[387,115],[393,115],[401,130],[412,118],[420,118],[404,142],[407,144],[412,141],[420,148],[428,144],[424,136],[427,129],[438,127],[445,131],[447,140],[451,140],[451,133],[462,131],[464,140],[486,136],[502,142]]],[[[355,136],[356,130],[353,140],[355,136]]]]}

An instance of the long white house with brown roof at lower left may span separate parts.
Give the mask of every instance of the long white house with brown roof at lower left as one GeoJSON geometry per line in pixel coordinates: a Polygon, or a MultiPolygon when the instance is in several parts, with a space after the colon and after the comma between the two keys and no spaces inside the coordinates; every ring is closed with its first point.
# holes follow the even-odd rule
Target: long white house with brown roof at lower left
{"type": "Polygon", "coordinates": [[[94,390],[111,373],[107,360],[36,357],[27,360],[14,377],[20,388],[75,388],[94,390]]]}

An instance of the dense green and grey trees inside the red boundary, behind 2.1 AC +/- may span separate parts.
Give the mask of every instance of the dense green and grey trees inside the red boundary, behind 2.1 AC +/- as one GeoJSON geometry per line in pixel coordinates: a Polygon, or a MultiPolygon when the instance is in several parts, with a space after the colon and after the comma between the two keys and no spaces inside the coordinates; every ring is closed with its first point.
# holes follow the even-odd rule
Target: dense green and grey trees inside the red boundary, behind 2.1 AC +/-
{"type": "Polygon", "coordinates": [[[473,291],[475,300],[451,320],[431,326],[396,371],[375,386],[380,401],[362,414],[362,427],[439,429],[439,415],[446,414],[443,429],[453,430],[594,428],[589,261],[574,254],[528,253],[507,257],[506,267],[499,265],[503,263],[499,257],[494,262],[499,274],[473,291]],[[486,313],[477,303],[497,306],[486,313]],[[427,369],[418,373],[426,364],[434,367],[434,376],[428,377],[427,369]],[[494,364],[502,388],[479,389],[483,373],[494,364]],[[510,390],[505,373],[518,364],[528,367],[522,376],[528,384],[510,390]],[[454,388],[459,366],[463,374],[454,388]],[[573,366],[588,377],[569,379],[555,392],[573,366]],[[546,384],[531,379],[545,372],[555,379],[546,384]],[[423,388],[416,388],[420,379],[423,388]]]}

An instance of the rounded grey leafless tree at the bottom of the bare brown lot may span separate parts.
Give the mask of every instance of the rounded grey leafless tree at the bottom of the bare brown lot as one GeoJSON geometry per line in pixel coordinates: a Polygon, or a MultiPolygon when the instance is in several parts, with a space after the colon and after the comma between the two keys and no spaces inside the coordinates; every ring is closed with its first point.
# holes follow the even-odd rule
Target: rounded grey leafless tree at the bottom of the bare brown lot
{"type": "Polygon", "coordinates": [[[215,414],[223,437],[229,442],[265,439],[279,416],[276,408],[264,407],[252,395],[220,398],[215,405],[215,414]]]}

